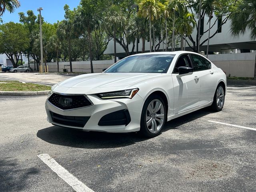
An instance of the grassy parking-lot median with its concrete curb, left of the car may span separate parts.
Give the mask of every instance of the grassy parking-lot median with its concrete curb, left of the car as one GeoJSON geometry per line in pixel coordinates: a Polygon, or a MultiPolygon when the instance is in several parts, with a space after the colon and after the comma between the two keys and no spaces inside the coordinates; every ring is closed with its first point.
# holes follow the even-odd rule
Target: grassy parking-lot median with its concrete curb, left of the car
{"type": "Polygon", "coordinates": [[[50,93],[50,86],[24,83],[19,81],[1,81],[0,95],[28,96],[28,95],[47,95],[50,93]]]}

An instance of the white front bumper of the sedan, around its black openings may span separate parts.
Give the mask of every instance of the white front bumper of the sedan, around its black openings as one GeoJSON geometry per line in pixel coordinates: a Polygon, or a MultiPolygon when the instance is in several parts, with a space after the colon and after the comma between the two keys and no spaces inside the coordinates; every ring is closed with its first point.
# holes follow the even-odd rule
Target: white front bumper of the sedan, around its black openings
{"type": "Polygon", "coordinates": [[[140,130],[140,116],[142,112],[142,106],[144,104],[143,99],[136,94],[132,99],[100,99],[96,95],[87,95],[92,101],[93,105],[72,109],[72,110],[61,110],[53,106],[48,99],[45,102],[45,108],[47,113],[47,120],[49,123],[58,126],[64,126],[69,128],[77,128],[84,131],[103,131],[103,132],[136,132],[140,130]],[[100,119],[112,112],[127,109],[130,114],[130,123],[128,125],[115,125],[115,126],[99,126],[100,119]],[[52,120],[51,112],[60,114],[62,116],[84,116],[90,117],[84,127],[77,127],[70,125],[64,125],[56,123],[52,120]]]}

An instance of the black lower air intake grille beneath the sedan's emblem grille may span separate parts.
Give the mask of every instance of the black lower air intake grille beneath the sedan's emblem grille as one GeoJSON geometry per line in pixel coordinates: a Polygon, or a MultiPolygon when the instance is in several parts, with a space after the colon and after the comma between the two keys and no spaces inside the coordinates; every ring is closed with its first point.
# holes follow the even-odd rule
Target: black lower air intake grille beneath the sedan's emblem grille
{"type": "Polygon", "coordinates": [[[64,116],[51,112],[52,121],[67,126],[84,127],[90,116],[64,116]]]}

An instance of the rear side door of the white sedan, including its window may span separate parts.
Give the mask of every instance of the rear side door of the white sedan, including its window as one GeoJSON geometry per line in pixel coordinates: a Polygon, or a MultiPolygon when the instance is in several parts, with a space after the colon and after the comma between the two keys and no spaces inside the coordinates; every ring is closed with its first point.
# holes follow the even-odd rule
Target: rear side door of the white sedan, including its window
{"type": "Polygon", "coordinates": [[[200,82],[200,104],[206,104],[212,100],[217,85],[217,78],[212,70],[212,64],[204,56],[190,54],[194,71],[197,72],[200,82]]]}

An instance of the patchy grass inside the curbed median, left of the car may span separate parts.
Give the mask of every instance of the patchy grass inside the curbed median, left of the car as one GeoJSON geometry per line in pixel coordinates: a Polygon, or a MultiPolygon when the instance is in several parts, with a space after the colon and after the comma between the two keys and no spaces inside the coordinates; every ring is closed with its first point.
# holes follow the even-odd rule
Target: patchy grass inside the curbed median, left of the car
{"type": "Polygon", "coordinates": [[[0,91],[46,91],[50,90],[50,86],[38,85],[34,83],[21,83],[18,81],[1,81],[0,91]],[[4,82],[4,83],[1,83],[4,82]]]}

